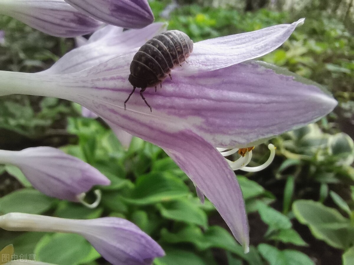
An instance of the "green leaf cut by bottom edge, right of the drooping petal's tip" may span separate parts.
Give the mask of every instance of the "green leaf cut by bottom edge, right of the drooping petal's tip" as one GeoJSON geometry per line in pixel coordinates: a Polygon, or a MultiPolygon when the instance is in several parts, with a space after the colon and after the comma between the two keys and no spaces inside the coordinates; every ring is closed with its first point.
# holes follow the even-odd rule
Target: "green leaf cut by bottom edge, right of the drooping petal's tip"
{"type": "Polygon", "coordinates": [[[259,244],[258,251],[270,265],[314,265],[304,253],[295,250],[280,251],[268,244],[259,244]]]}

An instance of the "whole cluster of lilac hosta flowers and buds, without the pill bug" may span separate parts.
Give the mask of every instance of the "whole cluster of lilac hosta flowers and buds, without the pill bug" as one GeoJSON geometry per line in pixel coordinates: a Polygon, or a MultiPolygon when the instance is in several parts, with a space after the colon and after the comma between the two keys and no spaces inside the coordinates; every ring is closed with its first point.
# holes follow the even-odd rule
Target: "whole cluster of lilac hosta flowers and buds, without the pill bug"
{"type": "MultiPolygon", "coordinates": [[[[246,167],[252,157],[248,147],[315,122],[337,104],[317,84],[253,60],[279,47],[303,19],[194,43],[188,64],[174,70],[172,80],[165,80],[157,93],[146,90],[150,113],[136,94],[124,109],[132,89],[128,76],[134,54],[166,28],[150,24],[153,15],[147,0],[6,0],[0,10],[54,36],[77,37],[97,30],[102,22],[110,24],[88,40],[77,39],[79,47],[46,71],[0,71],[0,95],[71,100],[105,120],[123,145],[134,135],[160,146],[193,181],[199,198],[206,196],[215,205],[245,252],[249,227],[233,170],[263,169],[274,158],[274,146],[269,145],[268,161],[256,168],[246,167]],[[235,152],[241,154],[239,160],[224,158],[235,152]]],[[[93,185],[109,184],[92,167],[51,148],[3,151],[0,159],[19,166],[35,188],[61,199],[78,201],[93,185]],[[63,163],[72,166],[54,174],[63,163]]],[[[0,217],[0,227],[75,232],[113,264],[151,264],[164,255],[148,235],[120,218],[62,220],[11,213],[0,217]]]]}

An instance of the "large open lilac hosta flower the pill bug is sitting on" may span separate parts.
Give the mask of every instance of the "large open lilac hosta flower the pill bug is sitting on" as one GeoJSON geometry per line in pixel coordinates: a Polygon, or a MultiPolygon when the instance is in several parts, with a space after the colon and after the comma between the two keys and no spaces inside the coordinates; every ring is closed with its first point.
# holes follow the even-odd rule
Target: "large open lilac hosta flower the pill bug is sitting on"
{"type": "Polygon", "coordinates": [[[128,81],[137,49],[65,75],[0,72],[0,93],[72,100],[164,149],[216,207],[235,238],[249,245],[242,193],[217,151],[262,143],[314,122],[337,102],[315,83],[250,59],[279,47],[303,20],[194,43],[188,64],[172,71],[162,89],[148,88],[145,105],[128,81]]]}

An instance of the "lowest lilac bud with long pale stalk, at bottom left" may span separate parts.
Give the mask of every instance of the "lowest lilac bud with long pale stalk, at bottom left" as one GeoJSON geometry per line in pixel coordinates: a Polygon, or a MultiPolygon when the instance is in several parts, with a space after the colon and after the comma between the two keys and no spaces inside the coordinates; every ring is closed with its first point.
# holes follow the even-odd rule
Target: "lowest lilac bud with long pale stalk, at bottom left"
{"type": "Polygon", "coordinates": [[[0,227],[10,231],[64,232],[82,235],[113,265],[148,265],[165,255],[138,226],[117,217],[73,220],[27,213],[0,216],[0,227]]]}

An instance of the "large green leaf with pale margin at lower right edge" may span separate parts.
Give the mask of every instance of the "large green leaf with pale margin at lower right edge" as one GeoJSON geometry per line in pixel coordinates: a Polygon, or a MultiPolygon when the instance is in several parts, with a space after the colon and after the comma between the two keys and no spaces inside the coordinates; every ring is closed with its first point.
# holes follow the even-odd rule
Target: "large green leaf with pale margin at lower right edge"
{"type": "Polygon", "coordinates": [[[347,249],[354,243],[354,227],[337,210],[311,200],[295,201],[292,209],[300,223],[330,246],[347,249]]]}

